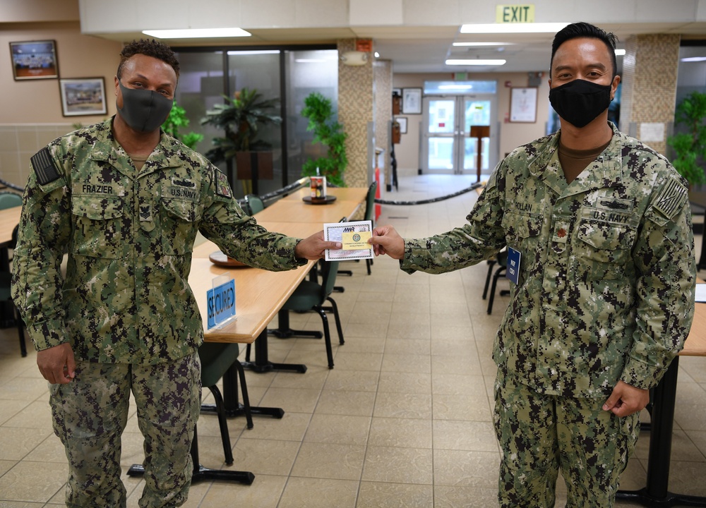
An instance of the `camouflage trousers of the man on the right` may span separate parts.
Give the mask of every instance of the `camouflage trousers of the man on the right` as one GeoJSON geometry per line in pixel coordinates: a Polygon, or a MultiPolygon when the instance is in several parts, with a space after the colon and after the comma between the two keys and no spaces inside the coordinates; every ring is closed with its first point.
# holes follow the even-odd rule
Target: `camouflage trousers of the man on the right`
{"type": "Polygon", "coordinates": [[[501,507],[553,508],[560,468],[566,507],[614,505],[639,422],[638,413],[618,418],[603,403],[541,394],[498,369],[494,418],[503,452],[501,507]]]}

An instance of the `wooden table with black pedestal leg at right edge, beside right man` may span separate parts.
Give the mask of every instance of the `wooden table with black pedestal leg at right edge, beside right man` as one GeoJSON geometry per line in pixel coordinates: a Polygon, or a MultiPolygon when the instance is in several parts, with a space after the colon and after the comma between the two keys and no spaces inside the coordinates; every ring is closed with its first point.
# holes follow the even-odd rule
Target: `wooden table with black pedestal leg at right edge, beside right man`
{"type": "Polygon", "coordinates": [[[645,507],[706,507],[706,497],[674,494],[668,490],[679,356],[706,356],[706,303],[696,304],[684,349],[674,358],[652,393],[646,485],[640,490],[618,490],[617,499],[637,502],[645,507]]]}

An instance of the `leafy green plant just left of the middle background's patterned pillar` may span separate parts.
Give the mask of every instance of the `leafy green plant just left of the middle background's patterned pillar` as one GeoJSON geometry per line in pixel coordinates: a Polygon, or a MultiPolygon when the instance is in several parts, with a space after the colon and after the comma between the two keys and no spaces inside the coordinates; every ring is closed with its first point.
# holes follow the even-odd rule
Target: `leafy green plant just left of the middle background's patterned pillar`
{"type": "Polygon", "coordinates": [[[333,104],[318,92],[312,92],[304,99],[301,116],[309,119],[307,131],[313,131],[313,140],[326,147],[326,156],[309,159],[301,167],[302,176],[321,174],[328,183],[345,187],[343,173],[348,165],[346,138],[343,127],[334,119],[333,104]]]}

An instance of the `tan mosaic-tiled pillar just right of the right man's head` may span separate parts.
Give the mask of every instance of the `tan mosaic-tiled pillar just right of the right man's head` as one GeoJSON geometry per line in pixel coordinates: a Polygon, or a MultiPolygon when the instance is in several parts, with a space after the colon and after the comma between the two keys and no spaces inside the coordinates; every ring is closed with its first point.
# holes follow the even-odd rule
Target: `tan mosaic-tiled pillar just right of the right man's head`
{"type": "Polygon", "coordinates": [[[623,56],[621,131],[639,139],[641,123],[663,123],[665,140],[645,141],[662,154],[674,122],[679,42],[679,35],[637,35],[626,40],[623,56]]]}

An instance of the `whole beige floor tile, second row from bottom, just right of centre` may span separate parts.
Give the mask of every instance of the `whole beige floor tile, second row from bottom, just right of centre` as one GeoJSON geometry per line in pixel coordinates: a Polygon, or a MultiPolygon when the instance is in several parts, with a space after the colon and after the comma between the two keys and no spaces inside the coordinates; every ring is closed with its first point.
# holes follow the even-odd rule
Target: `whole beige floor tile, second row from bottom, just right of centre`
{"type": "Polygon", "coordinates": [[[362,479],[432,485],[432,450],[369,446],[365,456],[362,479]]]}

